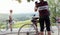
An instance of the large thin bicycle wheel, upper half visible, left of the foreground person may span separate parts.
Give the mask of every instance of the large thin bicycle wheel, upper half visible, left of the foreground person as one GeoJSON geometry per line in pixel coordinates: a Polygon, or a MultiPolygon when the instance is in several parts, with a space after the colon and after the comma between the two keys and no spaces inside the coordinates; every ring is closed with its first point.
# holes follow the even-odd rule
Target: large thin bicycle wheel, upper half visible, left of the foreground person
{"type": "Polygon", "coordinates": [[[34,35],[36,34],[36,26],[34,24],[24,24],[18,30],[18,35],[34,35]]]}

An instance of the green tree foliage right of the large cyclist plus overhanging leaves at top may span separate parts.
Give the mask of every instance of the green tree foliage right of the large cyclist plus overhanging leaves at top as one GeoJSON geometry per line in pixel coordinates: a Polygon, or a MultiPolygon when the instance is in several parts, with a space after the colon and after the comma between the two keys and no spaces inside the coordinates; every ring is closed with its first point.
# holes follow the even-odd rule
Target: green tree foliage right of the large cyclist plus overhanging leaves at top
{"type": "MultiPolygon", "coordinates": [[[[21,0],[17,0],[21,2],[21,0]]],[[[34,0],[26,0],[27,2],[34,1],[34,0]]],[[[47,0],[49,4],[49,10],[51,13],[51,20],[55,22],[55,17],[60,16],[60,0],[47,0]]]]}

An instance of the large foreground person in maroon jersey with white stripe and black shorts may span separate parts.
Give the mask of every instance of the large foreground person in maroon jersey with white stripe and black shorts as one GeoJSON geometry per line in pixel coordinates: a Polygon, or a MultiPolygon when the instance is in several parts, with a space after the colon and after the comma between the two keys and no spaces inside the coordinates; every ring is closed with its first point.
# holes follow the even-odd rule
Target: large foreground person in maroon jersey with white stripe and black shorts
{"type": "Polygon", "coordinates": [[[49,19],[49,8],[47,1],[39,0],[40,2],[35,2],[35,12],[39,11],[39,23],[40,23],[40,35],[44,35],[44,23],[46,24],[46,29],[48,35],[51,35],[50,30],[50,19],[49,19]]]}

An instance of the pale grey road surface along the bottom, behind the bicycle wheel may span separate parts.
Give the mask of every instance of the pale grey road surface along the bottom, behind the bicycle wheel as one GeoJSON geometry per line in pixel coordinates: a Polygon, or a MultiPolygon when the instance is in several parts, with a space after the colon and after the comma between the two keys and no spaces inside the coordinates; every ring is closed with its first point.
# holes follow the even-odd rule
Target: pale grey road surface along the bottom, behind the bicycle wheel
{"type": "MultiPolygon", "coordinates": [[[[26,31],[29,31],[30,35],[33,35],[33,32],[31,32],[30,30],[27,30],[28,28],[24,28],[21,30],[21,35],[26,35],[26,31]]],[[[39,29],[39,28],[38,28],[39,29]]],[[[0,32],[0,35],[18,35],[17,32],[18,32],[19,29],[16,29],[14,28],[13,31],[11,32],[10,30],[7,30],[5,32],[0,32]]],[[[56,26],[53,26],[52,27],[52,30],[54,31],[54,33],[52,33],[52,35],[58,35],[58,29],[56,26]]]]}

